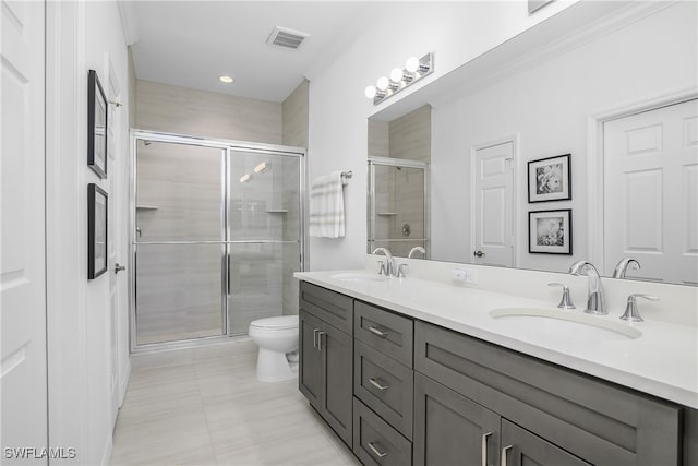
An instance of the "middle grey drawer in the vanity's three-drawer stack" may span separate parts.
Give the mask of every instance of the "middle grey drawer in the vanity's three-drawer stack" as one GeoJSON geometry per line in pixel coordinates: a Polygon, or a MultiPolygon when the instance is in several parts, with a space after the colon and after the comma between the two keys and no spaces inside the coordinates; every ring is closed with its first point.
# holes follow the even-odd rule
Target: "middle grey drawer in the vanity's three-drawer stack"
{"type": "Polygon", "coordinates": [[[361,342],[354,342],[353,367],[354,395],[411,440],[414,372],[361,342]]]}

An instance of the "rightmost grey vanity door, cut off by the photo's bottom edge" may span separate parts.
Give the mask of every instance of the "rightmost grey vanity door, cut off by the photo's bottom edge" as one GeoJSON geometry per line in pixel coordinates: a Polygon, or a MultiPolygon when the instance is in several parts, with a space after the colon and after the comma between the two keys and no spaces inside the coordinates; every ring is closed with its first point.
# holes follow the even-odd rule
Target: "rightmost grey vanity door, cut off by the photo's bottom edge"
{"type": "Polygon", "coordinates": [[[502,455],[506,455],[506,462],[503,461],[502,466],[589,466],[591,464],[506,419],[502,419],[502,455]]]}

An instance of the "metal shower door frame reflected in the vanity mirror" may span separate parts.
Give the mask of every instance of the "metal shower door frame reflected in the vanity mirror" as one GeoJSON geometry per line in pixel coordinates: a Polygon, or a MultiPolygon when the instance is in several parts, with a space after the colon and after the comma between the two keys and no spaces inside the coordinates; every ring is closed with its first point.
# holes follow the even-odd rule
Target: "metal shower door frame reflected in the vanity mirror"
{"type": "MultiPolygon", "coordinates": [[[[424,225],[423,225],[423,229],[422,231],[424,231],[424,237],[422,238],[422,241],[424,242],[424,249],[426,249],[426,255],[424,259],[429,259],[431,256],[431,244],[430,244],[430,237],[431,237],[431,230],[429,228],[430,225],[430,215],[429,215],[429,164],[426,162],[420,162],[420,160],[410,160],[407,158],[393,158],[393,157],[375,157],[375,156],[369,156],[368,158],[368,169],[369,169],[369,215],[370,215],[370,220],[368,222],[369,224],[369,230],[368,230],[368,238],[366,238],[366,249],[369,250],[368,253],[370,254],[372,251],[373,246],[375,246],[375,243],[377,241],[385,241],[385,242],[398,242],[398,241],[414,241],[413,239],[408,239],[408,240],[401,240],[401,239],[394,239],[394,240],[378,240],[375,237],[375,224],[376,224],[376,213],[375,213],[375,167],[376,165],[380,166],[388,166],[388,167],[405,167],[405,168],[417,168],[417,169],[421,169],[423,170],[423,175],[424,175],[424,181],[422,182],[423,188],[424,188],[424,194],[422,196],[422,202],[423,202],[423,213],[424,213],[424,225]]],[[[389,248],[388,248],[389,250],[389,248]]]]}

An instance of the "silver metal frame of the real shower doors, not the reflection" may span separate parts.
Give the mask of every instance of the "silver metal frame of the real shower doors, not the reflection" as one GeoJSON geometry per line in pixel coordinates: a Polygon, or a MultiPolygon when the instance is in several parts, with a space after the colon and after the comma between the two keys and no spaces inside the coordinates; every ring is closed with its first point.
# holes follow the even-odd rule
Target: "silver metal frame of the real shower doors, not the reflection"
{"type": "MultiPolygon", "coordinates": [[[[308,255],[308,238],[306,238],[306,196],[305,196],[305,179],[306,151],[303,147],[294,147],[287,145],[256,143],[250,141],[226,140],[215,138],[198,138],[194,135],[167,133],[159,131],[148,131],[140,129],[130,130],[130,190],[129,190],[129,346],[131,354],[160,351],[167,349],[179,349],[195,346],[208,345],[212,343],[228,342],[231,337],[237,336],[230,333],[230,299],[229,299],[229,246],[239,243],[285,243],[296,241],[285,240],[230,240],[230,225],[228,223],[228,207],[230,204],[230,158],[233,152],[254,152],[269,155],[280,155],[299,158],[299,271],[305,270],[308,255]],[[221,219],[221,239],[219,241],[155,241],[158,244],[220,244],[220,295],[221,295],[221,313],[222,330],[221,335],[205,336],[190,339],[180,339],[173,342],[148,343],[139,345],[136,340],[136,199],[137,199],[137,164],[136,152],[137,142],[147,140],[158,143],[172,143],[195,145],[201,147],[219,148],[221,153],[221,193],[220,193],[220,219],[221,219]]],[[[147,243],[147,242],[143,242],[147,243]]]]}

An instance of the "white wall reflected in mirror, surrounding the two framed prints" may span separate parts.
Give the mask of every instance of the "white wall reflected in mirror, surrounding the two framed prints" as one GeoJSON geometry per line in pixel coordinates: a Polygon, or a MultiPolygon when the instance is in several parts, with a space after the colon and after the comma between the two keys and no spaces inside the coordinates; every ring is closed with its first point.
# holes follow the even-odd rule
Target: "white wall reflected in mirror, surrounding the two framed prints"
{"type": "Polygon", "coordinates": [[[434,103],[433,259],[470,262],[470,148],[515,134],[518,265],[566,272],[589,259],[587,117],[696,88],[696,3],[679,2],[486,88],[434,103]],[[527,162],[568,153],[573,200],[528,204],[527,162]],[[528,212],[553,208],[573,208],[573,256],[528,253],[528,212]]]}

